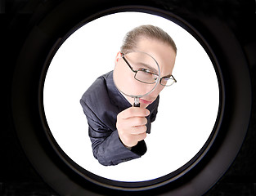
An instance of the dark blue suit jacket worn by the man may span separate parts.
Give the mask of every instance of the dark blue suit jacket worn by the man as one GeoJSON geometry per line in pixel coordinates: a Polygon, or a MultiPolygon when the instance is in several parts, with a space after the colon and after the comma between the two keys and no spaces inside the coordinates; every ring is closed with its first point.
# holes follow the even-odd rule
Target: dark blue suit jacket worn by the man
{"type": "MultiPolygon", "coordinates": [[[[113,71],[97,78],[83,94],[80,103],[88,119],[93,155],[99,163],[105,166],[117,165],[140,158],[146,153],[144,140],[130,150],[119,139],[116,129],[117,114],[132,105],[115,87],[113,71]]],[[[150,133],[150,123],[155,120],[158,104],[159,96],[147,107],[150,110],[150,115],[147,117],[147,133],[150,133]]]]}

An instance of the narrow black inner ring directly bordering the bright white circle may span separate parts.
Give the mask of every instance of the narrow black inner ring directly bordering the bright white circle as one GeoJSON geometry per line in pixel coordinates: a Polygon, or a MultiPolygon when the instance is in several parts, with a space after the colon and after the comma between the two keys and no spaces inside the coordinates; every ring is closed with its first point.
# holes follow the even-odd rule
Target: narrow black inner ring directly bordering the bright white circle
{"type": "Polygon", "coordinates": [[[56,46],[52,48],[52,51],[50,51],[49,56],[47,57],[46,63],[43,66],[43,73],[41,77],[41,82],[39,86],[39,104],[40,105],[40,111],[41,111],[41,118],[43,120],[43,127],[46,130],[47,137],[49,141],[51,142],[52,147],[56,150],[56,154],[59,154],[60,158],[63,159],[63,161],[69,165],[71,168],[74,169],[74,171],[78,172],[79,175],[83,176],[87,180],[91,180],[93,183],[97,183],[98,185],[114,188],[114,189],[127,189],[127,190],[143,190],[143,189],[152,189],[155,187],[159,187],[165,184],[168,184],[169,182],[176,180],[180,176],[183,176],[186,174],[187,171],[190,171],[192,167],[195,166],[196,163],[200,162],[200,159],[204,157],[204,154],[207,153],[208,149],[210,146],[213,144],[213,141],[215,137],[218,134],[218,129],[221,124],[221,119],[223,115],[223,105],[225,101],[224,97],[224,83],[222,81],[222,73],[221,69],[218,65],[218,60],[213,54],[213,51],[205,42],[204,38],[200,35],[200,33],[196,32],[195,29],[192,29],[191,26],[186,25],[186,21],[180,19],[179,17],[175,15],[171,15],[169,13],[168,15],[164,13],[163,11],[159,11],[157,9],[153,9],[151,7],[113,7],[110,10],[102,11],[97,13],[96,15],[89,17],[86,20],[83,20],[79,25],[76,25],[73,29],[70,30],[69,33],[67,33],[63,38],[61,38],[58,42],[56,42],[56,46]],[[218,76],[218,87],[219,87],[219,107],[218,107],[218,116],[216,123],[213,127],[213,131],[209,136],[209,139],[205,142],[204,146],[200,149],[200,151],[195,154],[191,160],[186,163],[184,166],[178,168],[176,171],[171,172],[170,174],[166,176],[159,177],[155,180],[147,180],[147,181],[138,181],[138,182],[124,182],[124,181],[115,181],[115,180],[108,180],[106,178],[103,178],[101,176],[94,175],[92,172],[87,171],[86,168],[79,167],[72,159],[68,157],[67,154],[61,149],[61,147],[57,144],[56,140],[52,136],[51,129],[47,125],[47,120],[44,114],[43,110],[43,84],[44,84],[44,79],[46,78],[47,74],[47,69],[50,66],[52,62],[52,58],[55,56],[56,51],[59,50],[59,48],[62,46],[62,44],[65,42],[67,38],[70,37],[72,33],[74,33],[77,29],[81,28],[83,25],[88,24],[88,22],[92,21],[92,19],[96,19],[97,17],[101,16],[106,16],[107,14],[112,14],[116,12],[122,12],[122,11],[127,11],[127,10],[132,10],[132,11],[141,11],[141,12],[154,12],[158,16],[162,16],[168,20],[174,20],[177,24],[182,25],[183,29],[186,29],[189,33],[195,36],[195,38],[202,44],[202,46],[205,48],[205,50],[208,52],[210,59],[213,61],[213,67],[216,70],[217,76],[218,76]]]}

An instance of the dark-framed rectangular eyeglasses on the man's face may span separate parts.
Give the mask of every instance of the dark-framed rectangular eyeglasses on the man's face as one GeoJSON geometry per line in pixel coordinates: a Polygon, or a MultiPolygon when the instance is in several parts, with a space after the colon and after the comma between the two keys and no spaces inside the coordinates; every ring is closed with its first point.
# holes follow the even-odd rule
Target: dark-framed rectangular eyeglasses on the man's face
{"type": "MultiPolygon", "coordinates": [[[[132,69],[132,66],[129,64],[128,60],[124,57],[123,55],[123,59],[126,62],[126,64],[128,65],[128,67],[132,70],[132,72],[134,72],[134,78],[139,81],[139,82],[143,82],[143,83],[148,83],[148,84],[153,84],[157,81],[157,79],[159,78],[159,74],[154,73],[154,71],[150,70],[150,66],[144,66],[143,68],[139,68],[137,70],[132,69]]],[[[177,82],[177,80],[173,77],[173,75],[170,76],[164,76],[162,78],[159,79],[159,83],[164,86],[164,87],[169,87],[172,86],[173,83],[177,82]]]]}

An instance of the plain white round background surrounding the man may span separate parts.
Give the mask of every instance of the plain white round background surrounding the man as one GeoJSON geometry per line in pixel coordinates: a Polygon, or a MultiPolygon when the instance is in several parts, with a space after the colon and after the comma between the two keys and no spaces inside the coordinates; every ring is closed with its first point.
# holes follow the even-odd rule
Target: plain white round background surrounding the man
{"type": "Polygon", "coordinates": [[[47,71],[43,103],[52,135],[74,162],[111,180],[142,181],[167,175],[195,156],[213,129],[218,96],[213,65],[190,33],[159,16],[124,12],[83,25],[62,44],[47,71]],[[157,25],[176,42],[177,83],[160,94],[159,113],[146,137],[146,154],[105,167],[92,155],[79,100],[97,77],[114,69],[125,33],[138,25],[157,25]]]}

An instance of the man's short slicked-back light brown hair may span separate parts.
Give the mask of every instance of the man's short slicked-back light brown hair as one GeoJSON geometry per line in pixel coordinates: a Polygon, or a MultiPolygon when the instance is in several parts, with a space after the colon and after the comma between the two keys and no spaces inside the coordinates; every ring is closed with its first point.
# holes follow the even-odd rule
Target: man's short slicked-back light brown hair
{"type": "Polygon", "coordinates": [[[177,54],[177,47],[173,41],[173,38],[171,38],[163,29],[160,29],[154,25],[141,25],[126,33],[123,40],[123,45],[120,48],[121,52],[127,54],[129,51],[132,51],[134,48],[136,48],[137,41],[141,37],[155,38],[159,41],[167,43],[169,46],[173,47],[173,50],[177,54]]]}

